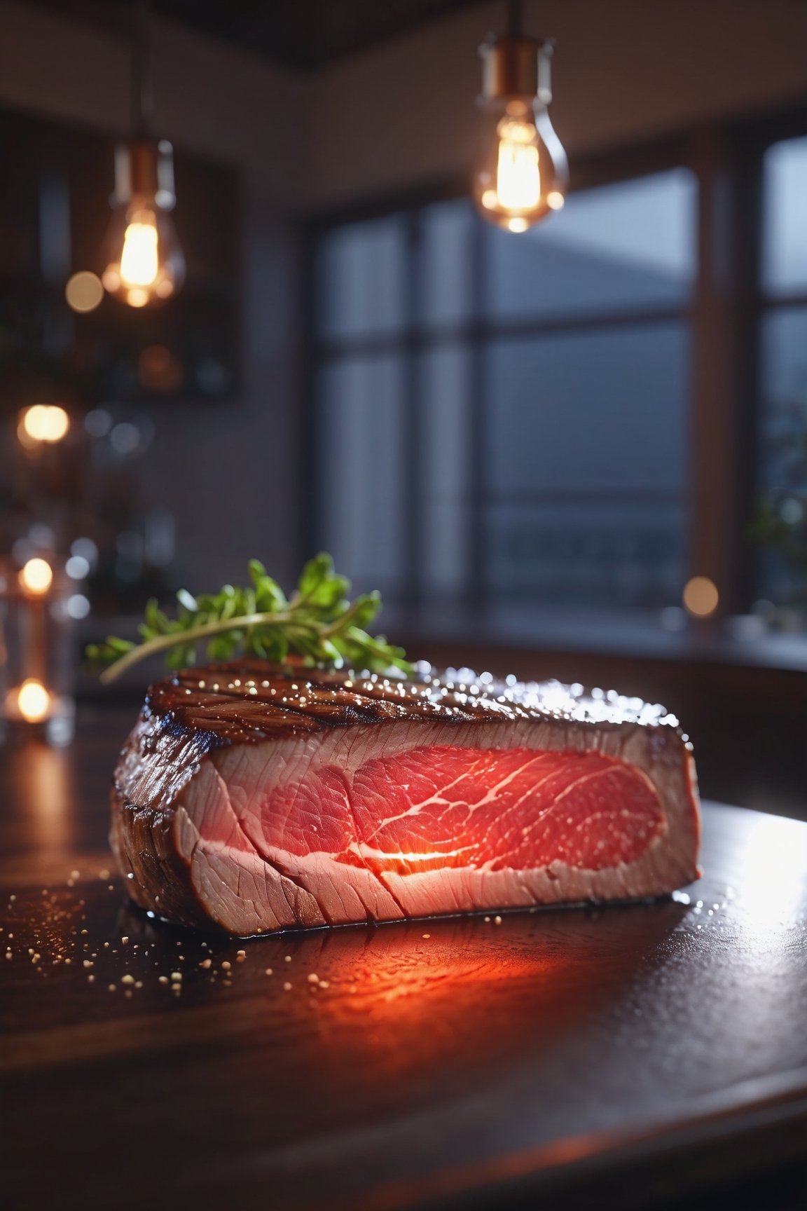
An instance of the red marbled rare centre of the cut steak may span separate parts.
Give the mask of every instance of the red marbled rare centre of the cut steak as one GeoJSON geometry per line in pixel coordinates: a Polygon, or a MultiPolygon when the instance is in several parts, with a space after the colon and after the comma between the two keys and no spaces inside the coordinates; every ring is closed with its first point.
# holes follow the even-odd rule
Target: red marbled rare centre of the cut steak
{"type": "Polygon", "coordinates": [[[596,752],[450,746],[328,767],[261,804],[263,845],[373,869],[601,871],[639,859],[664,814],[651,781],[596,752]]]}

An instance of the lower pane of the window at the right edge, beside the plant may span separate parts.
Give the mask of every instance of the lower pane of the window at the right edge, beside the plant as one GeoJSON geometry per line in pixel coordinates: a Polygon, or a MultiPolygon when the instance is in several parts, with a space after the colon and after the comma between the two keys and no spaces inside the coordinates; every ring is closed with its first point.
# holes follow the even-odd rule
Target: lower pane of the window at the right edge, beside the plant
{"type": "Polygon", "coordinates": [[[762,321],[762,407],[756,526],[760,590],[778,606],[807,599],[807,308],[762,321]]]}

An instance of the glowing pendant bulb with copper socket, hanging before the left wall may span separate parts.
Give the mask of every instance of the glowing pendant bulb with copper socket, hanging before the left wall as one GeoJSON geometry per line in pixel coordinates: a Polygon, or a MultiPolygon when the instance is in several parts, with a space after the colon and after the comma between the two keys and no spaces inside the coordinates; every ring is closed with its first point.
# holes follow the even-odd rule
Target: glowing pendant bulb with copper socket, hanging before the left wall
{"type": "Polygon", "coordinates": [[[142,308],[171,298],[185,260],[171,219],[174,183],[169,143],[133,139],[117,149],[104,288],[142,308]]]}

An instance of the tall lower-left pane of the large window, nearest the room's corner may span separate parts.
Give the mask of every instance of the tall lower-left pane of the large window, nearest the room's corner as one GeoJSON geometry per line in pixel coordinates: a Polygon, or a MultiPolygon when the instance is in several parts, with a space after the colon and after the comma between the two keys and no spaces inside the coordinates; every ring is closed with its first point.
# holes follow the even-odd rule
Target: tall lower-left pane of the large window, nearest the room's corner
{"type": "Polygon", "coordinates": [[[354,589],[394,597],[405,551],[400,361],[340,358],[318,388],[319,540],[354,589]]]}

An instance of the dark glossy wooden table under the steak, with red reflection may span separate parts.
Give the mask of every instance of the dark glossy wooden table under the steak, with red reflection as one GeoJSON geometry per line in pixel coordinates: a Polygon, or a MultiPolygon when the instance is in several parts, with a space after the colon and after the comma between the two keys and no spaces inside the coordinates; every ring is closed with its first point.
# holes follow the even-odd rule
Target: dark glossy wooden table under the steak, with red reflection
{"type": "Polygon", "coordinates": [[[783,1164],[801,1189],[807,825],[708,804],[707,873],[661,903],[230,942],[110,873],[131,718],[0,753],[6,1205],[629,1207],[783,1164]]]}

